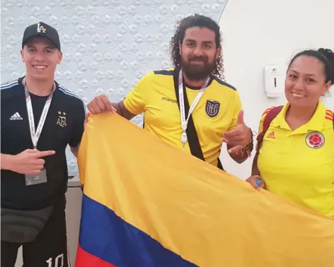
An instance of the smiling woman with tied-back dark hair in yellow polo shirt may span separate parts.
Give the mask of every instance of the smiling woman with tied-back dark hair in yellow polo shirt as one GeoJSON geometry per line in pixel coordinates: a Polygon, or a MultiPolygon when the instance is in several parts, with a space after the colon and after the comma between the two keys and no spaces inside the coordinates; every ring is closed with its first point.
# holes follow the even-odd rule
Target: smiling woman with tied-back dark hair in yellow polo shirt
{"type": "Polygon", "coordinates": [[[284,107],[267,109],[260,121],[255,188],[334,216],[333,112],[320,97],[334,83],[334,53],[305,50],[289,64],[284,107]],[[267,133],[266,133],[267,132],[267,133]]]}

